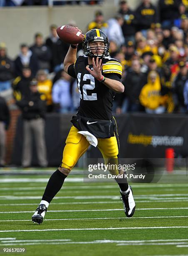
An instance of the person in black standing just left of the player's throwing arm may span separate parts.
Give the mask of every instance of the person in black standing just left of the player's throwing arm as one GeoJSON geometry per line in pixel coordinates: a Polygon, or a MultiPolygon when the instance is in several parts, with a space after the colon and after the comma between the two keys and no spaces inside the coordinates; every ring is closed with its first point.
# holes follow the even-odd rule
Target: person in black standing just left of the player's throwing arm
{"type": "Polygon", "coordinates": [[[58,72],[63,68],[63,61],[69,49],[69,44],[60,40],[56,28],[56,25],[50,26],[50,36],[46,39],[46,45],[52,53],[50,70],[54,72],[58,72]]]}

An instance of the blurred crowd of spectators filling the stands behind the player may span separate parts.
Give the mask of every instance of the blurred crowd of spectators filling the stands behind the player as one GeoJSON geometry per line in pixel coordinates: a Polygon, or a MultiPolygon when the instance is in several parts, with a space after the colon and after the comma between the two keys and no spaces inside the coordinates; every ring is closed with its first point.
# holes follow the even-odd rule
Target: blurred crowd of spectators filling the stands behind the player
{"type": "MultiPolygon", "coordinates": [[[[0,0],[0,5],[16,5],[15,2],[47,4],[37,0],[0,0]]],[[[71,2],[98,4],[102,1],[71,2]]],[[[70,25],[77,26],[74,21],[70,25]]],[[[25,119],[32,119],[33,113],[35,117],[44,118],[46,111],[69,113],[78,109],[77,82],[63,71],[69,45],[60,40],[56,28],[55,24],[50,26],[48,38],[39,31],[31,45],[23,42],[15,59],[9,56],[6,44],[0,43],[0,108],[4,106],[6,113],[2,113],[0,121],[5,122],[6,128],[9,124],[7,105],[20,108],[25,119]],[[32,103],[35,101],[37,106],[32,103]],[[40,101],[45,102],[46,108],[40,101]]],[[[187,0],[159,0],[156,6],[150,0],[141,0],[135,10],[120,0],[114,17],[104,20],[103,12],[96,11],[83,33],[93,28],[107,33],[110,57],[118,59],[123,66],[125,91],[115,96],[114,113],[187,113],[187,0]]],[[[82,54],[79,45],[78,56],[82,54]]]]}

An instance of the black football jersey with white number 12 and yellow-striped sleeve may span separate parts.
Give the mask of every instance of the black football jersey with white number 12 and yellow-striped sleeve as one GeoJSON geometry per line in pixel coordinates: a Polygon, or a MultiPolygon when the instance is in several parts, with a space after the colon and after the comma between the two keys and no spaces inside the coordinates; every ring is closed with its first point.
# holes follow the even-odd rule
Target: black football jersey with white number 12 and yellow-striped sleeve
{"type": "MultiPolygon", "coordinates": [[[[102,63],[104,64],[102,74],[120,81],[122,75],[120,62],[104,57],[102,63]]],[[[77,114],[93,119],[111,120],[115,92],[95,79],[86,69],[87,66],[92,70],[93,64],[89,65],[88,57],[83,55],[68,68],[68,74],[77,78],[80,93],[80,107],[77,114]]]]}

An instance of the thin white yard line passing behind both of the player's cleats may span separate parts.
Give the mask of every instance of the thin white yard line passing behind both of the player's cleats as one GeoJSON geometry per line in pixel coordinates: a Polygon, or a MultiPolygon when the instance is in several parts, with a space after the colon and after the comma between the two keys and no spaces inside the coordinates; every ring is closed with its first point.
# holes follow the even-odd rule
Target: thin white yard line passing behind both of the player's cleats
{"type": "MultiPolygon", "coordinates": [[[[171,208],[137,208],[136,210],[184,210],[188,207],[171,207],[171,208]]],[[[122,211],[122,209],[93,209],[93,210],[49,210],[48,212],[105,212],[105,211],[122,211]]],[[[13,211],[0,213],[26,213],[35,211],[13,211]]]]}

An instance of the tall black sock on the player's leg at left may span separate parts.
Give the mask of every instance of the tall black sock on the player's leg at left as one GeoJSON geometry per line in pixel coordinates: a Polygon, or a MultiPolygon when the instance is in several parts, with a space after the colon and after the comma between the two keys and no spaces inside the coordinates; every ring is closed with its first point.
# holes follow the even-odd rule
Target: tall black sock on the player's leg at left
{"type": "Polygon", "coordinates": [[[59,170],[55,171],[48,181],[42,200],[50,203],[60,191],[66,177],[67,176],[59,170]]]}

